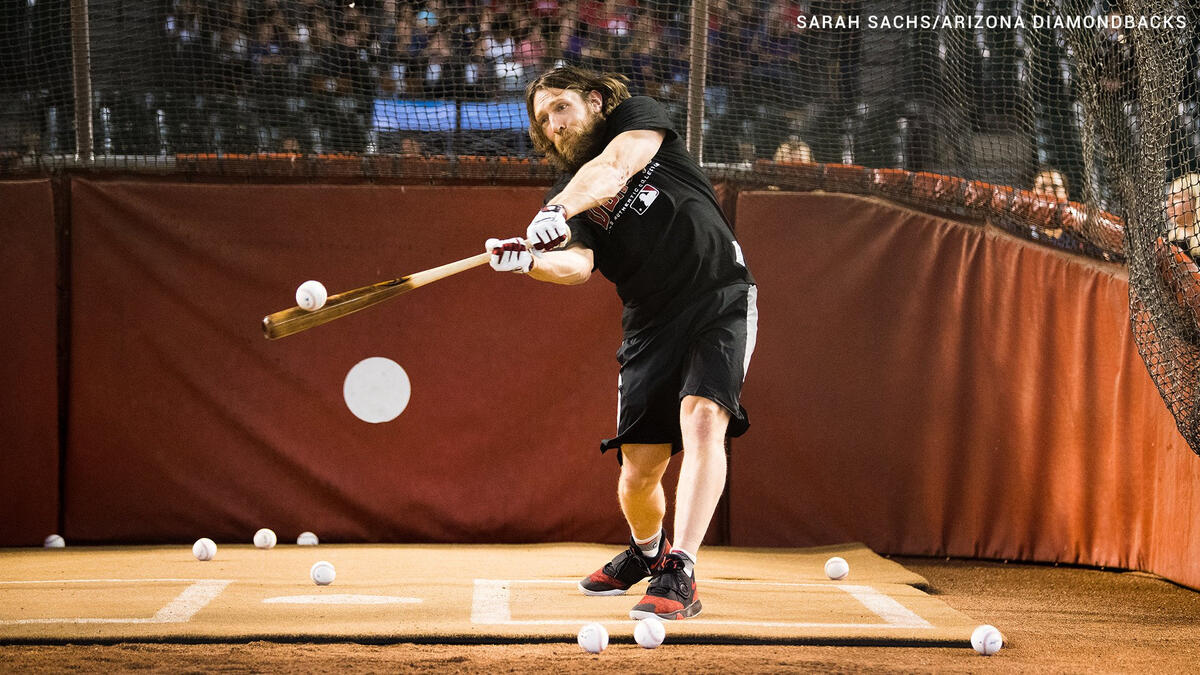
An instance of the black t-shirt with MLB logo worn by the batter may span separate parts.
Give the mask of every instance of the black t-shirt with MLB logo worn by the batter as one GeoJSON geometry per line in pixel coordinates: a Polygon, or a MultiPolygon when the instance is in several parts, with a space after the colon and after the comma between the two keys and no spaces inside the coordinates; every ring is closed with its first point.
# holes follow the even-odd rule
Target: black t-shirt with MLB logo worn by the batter
{"type": "MultiPolygon", "coordinates": [[[[605,145],[625,131],[666,132],[659,151],[616,197],[569,221],[571,240],[592,249],[596,269],[617,285],[625,333],[666,322],[707,292],[754,283],[712,184],[662,106],[634,96],[604,124],[605,145]]],[[[572,175],[556,183],[546,201],[572,175]]]]}

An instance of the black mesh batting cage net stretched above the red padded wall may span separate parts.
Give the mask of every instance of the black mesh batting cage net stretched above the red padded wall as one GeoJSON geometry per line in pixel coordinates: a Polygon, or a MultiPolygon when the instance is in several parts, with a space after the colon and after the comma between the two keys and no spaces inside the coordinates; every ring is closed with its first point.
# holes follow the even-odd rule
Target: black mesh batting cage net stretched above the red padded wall
{"type": "Polygon", "coordinates": [[[623,73],[714,180],[874,195],[1127,262],[1200,449],[1190,0],[19,0],[0,177],[548,180],[523,88],[623,73]]]}

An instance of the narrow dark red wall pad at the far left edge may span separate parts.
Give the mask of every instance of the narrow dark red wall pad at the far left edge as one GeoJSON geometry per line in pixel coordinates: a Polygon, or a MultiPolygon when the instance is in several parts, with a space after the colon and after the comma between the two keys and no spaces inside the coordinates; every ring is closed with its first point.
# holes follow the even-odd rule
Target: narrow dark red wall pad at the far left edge
{"type": "Polygon", "coordinates": [[[59,518],[54,191],[5,181],[0,204],[0,546],[19,546],[41,544],[59,518]]]}

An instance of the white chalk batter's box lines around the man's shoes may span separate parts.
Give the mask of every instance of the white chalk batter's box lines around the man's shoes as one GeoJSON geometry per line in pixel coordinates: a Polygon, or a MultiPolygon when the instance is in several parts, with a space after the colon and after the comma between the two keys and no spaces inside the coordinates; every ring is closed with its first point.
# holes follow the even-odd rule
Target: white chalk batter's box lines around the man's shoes
{"type": "MultiPolygon", "coordinates": [[[[577,584],[570,579],[475,579],[475,592],[472,597],[470,621],[473,623],[491,623],[506,626],[574,626],[578,623],[574,620],[514,620],[511,608],[511,586],[526,585],[552,585],[552,584],[577,584]]],[[[726,584],[736,586],[782,586],[792,589],[836,589],[848,593],[858,601],[871,614],[883,620],[883,623],[833,623],[811,621],[724,621],[708,619],[689,619],[689,625],[704,626],[743,626],[761,628],[924,628],[931,629],[931,625],[917,613],[900,604],[895,598],[880,592],[872,586],[854,584],[814,584],[794,581],[743,581],[706,579],[704,584],[726,584]]]]}

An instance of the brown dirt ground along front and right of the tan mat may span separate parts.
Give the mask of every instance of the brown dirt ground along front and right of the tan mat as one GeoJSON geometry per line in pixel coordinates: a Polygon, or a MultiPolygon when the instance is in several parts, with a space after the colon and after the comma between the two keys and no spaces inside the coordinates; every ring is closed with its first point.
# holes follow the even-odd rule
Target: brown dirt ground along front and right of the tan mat
{"type": "MultiPolygon", "coordinates": [[[[1200,662],[1200,593],[1153,575],[978,561],[895,558],[928,591],[1003,631],[1000,653],[970,649],[613,644],[118,644],[0,646],[12,673],[1188,673],[1200,662]]],[[[703,579],[701,579],[703,584],[703,579]]]]}

